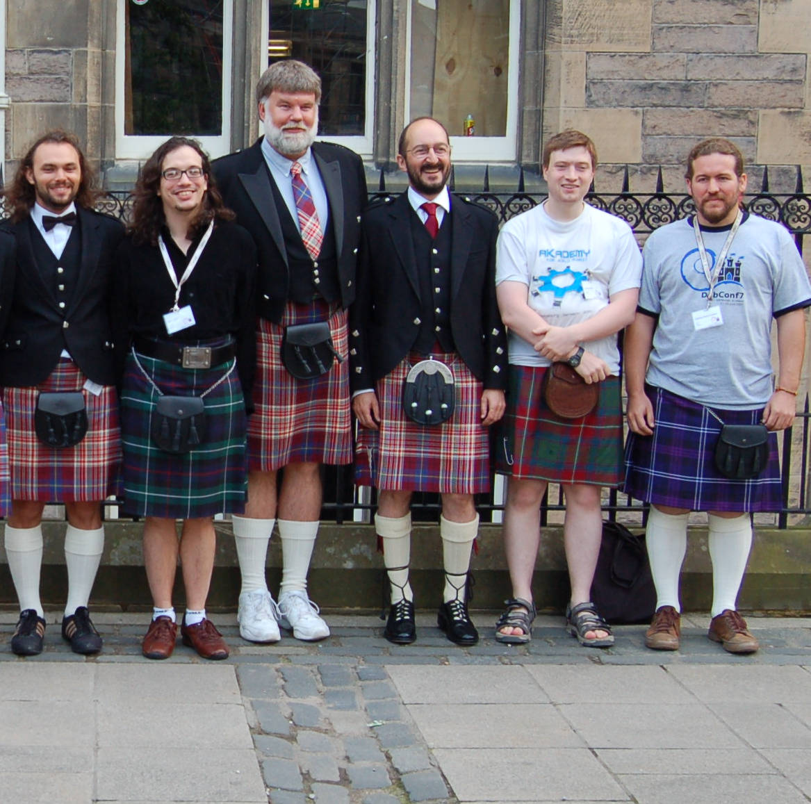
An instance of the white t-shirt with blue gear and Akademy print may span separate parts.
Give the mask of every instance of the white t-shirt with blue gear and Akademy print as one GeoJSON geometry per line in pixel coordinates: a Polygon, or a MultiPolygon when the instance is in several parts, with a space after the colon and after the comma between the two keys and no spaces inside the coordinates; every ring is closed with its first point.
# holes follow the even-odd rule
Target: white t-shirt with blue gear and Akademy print
{"type": "MultiPolygon", "coordinates": [[[[642,255],[631,227],[588,204],[573,221],[556,221],[539,204],[504,224],[496,249],[496,285],[526,285],[527,303],[551,325],[588,320],[607,306],[611,295],[640,285],[642,255]]],[[[605,360],[611,374],[620,373],[616,334],[583,346],[605,360]]],[[[513,332],[509,362],[550,363],[513,332]]]]}

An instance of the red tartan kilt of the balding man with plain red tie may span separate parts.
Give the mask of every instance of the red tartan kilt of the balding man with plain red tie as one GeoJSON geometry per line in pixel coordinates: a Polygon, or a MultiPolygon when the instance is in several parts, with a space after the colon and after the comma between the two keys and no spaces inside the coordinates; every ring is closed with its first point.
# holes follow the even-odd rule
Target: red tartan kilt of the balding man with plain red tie
{"type": "Polygon", "coordinates": [[[455,352],[434,355],[453,372],[453,416],[417,424],[402,410],[405,376],[422,355],[409,355],[377,381],[380,429],[358,428],[355,482],[388,491],[478,494],[490,489],[489,430],[481,423],[483,385],[455,352]]]}

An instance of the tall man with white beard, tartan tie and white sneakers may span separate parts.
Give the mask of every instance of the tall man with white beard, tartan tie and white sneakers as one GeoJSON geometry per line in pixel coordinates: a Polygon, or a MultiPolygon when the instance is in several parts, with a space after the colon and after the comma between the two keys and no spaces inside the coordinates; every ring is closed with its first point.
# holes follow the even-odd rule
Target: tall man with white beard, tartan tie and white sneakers
{"type": "Polygon", "coordinates": [[[268,67],[256,86],[264,136],[212,165],[225,204],[259,251],[248,503],[244,516],[233,518],[239,633],[253,642],[277,642],[280,623],[298,639],[329,635],[307,595],[320,466],[352,462],[346,307],[354,299],[367,187],[356,153],[314,142],[320,97],[320,78],[306,64],[268,67]],[[264,573],[277,521],[278,604],[264,573]]]}

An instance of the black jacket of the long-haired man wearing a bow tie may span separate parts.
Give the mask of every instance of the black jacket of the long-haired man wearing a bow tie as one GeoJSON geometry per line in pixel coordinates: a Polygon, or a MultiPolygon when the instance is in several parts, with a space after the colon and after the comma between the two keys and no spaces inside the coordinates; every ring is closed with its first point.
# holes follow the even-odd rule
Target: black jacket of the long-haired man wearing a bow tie
{"type": "Polygon", "coordinates": [[[60,309],[36,267],[28,218],[9,225],[17,243],[17,269],[6,331],[0,340],[0,385],[39,385],[62,349],[93,382],[114,385],[109,286],[114,253],[124,234],[120,221],[76,204],[82,235],[75,291],[60,309]]]}

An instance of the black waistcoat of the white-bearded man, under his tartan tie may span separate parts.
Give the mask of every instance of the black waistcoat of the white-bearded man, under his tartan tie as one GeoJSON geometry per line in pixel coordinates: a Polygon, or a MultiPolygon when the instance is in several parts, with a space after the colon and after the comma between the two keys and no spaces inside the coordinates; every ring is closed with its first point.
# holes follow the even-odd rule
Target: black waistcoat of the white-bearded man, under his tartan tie
{"type": "MultiPolygon", "coordinates": [[[[281,192],[276,186],[270,171],[268,170],[268,181],[273,191],[273,200],[276,201],[276,209],[279,212],[281,221],[281,233],[285,236],[285,250],[287,252],[287,264],[290,267],[290,285],[287,289],[287,299],[298,303],[310,302],[315,296],[321,296],[328,302],[337,302],[341,299],[341,291],[338,284],[338,256],[335,246],[335,234],[333,226],[329,220],[332,213],[329,213],[324,226],[324,221],[320,221],[321,230],[324,232],[324,240],[321,243],[321,252],[313,260],[304,247],[301,233],[295,225],[290,210],[287,209],[285,200],[281,197],[281,192]]],[[[329,203],[329,202],[327,202],[329,203]]]]}

